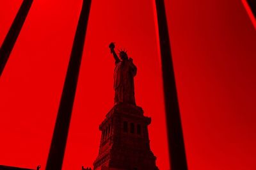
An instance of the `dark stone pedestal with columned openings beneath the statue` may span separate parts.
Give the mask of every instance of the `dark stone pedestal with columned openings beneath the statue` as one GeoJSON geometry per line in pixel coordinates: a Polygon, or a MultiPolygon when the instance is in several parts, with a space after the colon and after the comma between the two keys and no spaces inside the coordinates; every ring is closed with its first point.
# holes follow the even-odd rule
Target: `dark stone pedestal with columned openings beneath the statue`
{"type": "Polygon", "coordinates": [[[148,139],[150,122],[141,107],[115,105],[99,126],[102,136],[93,169],[157,170],[148,139]]]}

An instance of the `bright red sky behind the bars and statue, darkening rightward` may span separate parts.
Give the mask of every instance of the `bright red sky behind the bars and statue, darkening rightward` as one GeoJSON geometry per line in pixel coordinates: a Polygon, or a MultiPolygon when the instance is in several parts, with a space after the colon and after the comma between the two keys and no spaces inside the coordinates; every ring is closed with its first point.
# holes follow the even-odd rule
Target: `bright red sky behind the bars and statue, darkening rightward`
{"type": "MultiPolygon", "coordinates": [[[[0,43],[21,0],[0,2],[0,43]]],[[[82,1],[35,0],[0,79],[0,164],[45,168],[82,1]]],[[[138,66],[136,103],[170,169],[152,0],[93,1],[63,169],[91,166],[113,107],[109,42],[138,66]]],[[[256,32],[240,0],[166,1],[189,170],[256,169],[256,32]]]]}

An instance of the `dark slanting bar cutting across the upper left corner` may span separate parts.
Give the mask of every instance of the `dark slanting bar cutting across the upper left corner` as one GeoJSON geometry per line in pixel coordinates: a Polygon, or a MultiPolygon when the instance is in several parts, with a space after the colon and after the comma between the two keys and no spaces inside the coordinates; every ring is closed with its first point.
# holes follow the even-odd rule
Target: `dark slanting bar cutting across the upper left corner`
{"type": "Polygon", "coordinates": [[[4,38],[4,42],[0,49],[0,77],[19,36],[20,30],[26,20],[32,3],[33,0],[24,0],[22,2],[19,12],[13,20],[12,26],[10,27],[6,37],[4,38]]]}

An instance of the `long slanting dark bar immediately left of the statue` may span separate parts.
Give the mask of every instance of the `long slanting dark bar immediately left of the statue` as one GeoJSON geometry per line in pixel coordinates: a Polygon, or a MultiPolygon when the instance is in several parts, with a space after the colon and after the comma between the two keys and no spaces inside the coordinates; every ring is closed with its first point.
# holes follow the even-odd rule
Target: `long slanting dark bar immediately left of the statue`
{"type": "Polygon", "coordinates": [[[72,114],[72,107],[76,95],[79,68],[83,56],[86,27],[90,13],[91,0],[83,0],[83,6],[77,24],[76,35],[68,63],[67,75],[63,87],[60,107],[52,136],[46,170],[61,170],[68,137],[68,128],[72,114]]]}

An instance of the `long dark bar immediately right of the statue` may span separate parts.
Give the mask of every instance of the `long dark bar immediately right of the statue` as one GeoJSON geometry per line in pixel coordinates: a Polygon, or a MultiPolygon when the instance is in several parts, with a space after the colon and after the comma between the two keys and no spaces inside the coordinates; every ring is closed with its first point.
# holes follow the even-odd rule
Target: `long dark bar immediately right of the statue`
{"type": "Polygon", "coordinates": [[[188,166],[182,134],[179,102],[173,71],[172,53],[164,8],[164,0],[156,0],[156,11],[161,50],[170,165],[172,170],[187,170],[188,166]]]}

